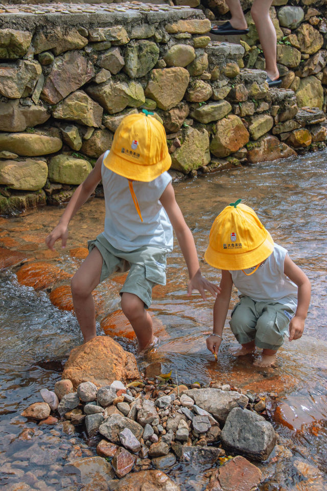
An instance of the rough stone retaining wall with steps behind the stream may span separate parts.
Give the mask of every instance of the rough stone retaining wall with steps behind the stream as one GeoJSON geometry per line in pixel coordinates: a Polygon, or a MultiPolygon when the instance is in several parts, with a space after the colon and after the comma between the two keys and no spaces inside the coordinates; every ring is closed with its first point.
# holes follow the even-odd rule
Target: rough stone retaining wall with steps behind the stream
{"type": "Polygon", "coordinates": [[[164,123],[174,178],[323,146],[323,12],[272,8],[285,88],[268,90],[253,26],[238,44],[213,41],[215,9],[3,5],[0,213],[68,200],[142,108],[164,123]]]}

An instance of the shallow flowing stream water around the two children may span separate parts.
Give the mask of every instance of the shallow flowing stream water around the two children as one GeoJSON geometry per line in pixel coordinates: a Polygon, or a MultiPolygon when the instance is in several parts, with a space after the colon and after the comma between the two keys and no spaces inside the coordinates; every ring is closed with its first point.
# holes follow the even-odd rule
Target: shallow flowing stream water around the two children
{"type": "MultiPolygon", "coordinates": [[[[186,268],[177,243],[168,261],[167,287],[157,289],[150,309],[161,332],[153,359],[161,362],[164,372],[172,370],[178,383],[218,381],[270,394],[267,417],[285,448],[278,447],[268,462],[260,464],[265,491],[327,489],[326,163],[327,152],[323,151],[206,174],[174,185],[195,238],[202,273],[209,280],[219,282],[219,271],[203,260],[209,230],[216,215],[238,198],[258,213],[275,242],[288,249],[311,280],[305,332],[298,341],[285,341],[276,368],[254,368],[250,357],[233,358],[229,349],[237,343],[228,324],[230,311],[218,362],[214,361],[205,347],[214,300],[208,296],[203,301],[197,293],[192,298],[186,295],[186,268]]],[[[68,251],[85,246],[87,239],[102,231],[104,202],[95,198],[86,203],[72,221],[67,248],[62,250],[58,244],[58,252],[52,254],[43,240],[61,213],[60,208],[46,207],[0,219],[0,245],[73,273],[81,260],[68,251]]],[[[68,489],[75,480],[64,467],[71,445],[78,445],[82,456],[95,455],[95,449],[89,450],[85,435],[62,436],[56,427],[37,427],[31,440],[23,440],[19,437],[22,430],[35,430],[36,425],[20,413],[41,400],[41,388],[53,389],[69,350],[80,344],[81,335],[70,312],[54,307],[46,291],[35,292],[19,284],[15,271],[4,270],[0,276],[0,484],[22,481],[45,490],[68,489]]],[[[109,279],[98,287],[103,313],[119,308],[119,286],[109,279]]],[[[233,291],[230,308],[236,302],[233,291]]],[[[99,325],[98,330],[102,332],[99,325]]],[[[132,341],[115,339],[135,350],[132,341]]],[[[140,362],[141,369],[143,366],[140,362]]],[[[210,467],[176,464],[168,474],[183,491],[201,491],[210,467]]]]}

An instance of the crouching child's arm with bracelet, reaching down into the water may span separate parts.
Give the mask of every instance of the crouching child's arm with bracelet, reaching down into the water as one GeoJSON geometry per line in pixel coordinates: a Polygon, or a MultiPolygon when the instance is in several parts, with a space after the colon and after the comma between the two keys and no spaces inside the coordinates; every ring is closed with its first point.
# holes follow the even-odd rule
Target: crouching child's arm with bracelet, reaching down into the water
{"type": "Polygon", "coordinates": [[[214,329],[213,334],[209,336],[206,340],[206,347],[213,354],[218,353],[219,347],[222,341],[223,328],[227,316],[227,311],[229,307],[231,288],[233,286],[233,281],[231,279],[231,274],[229,271],[221,271],[221,281],[220,281],[221,293],[217,296],[214,305],[214,329]]]}

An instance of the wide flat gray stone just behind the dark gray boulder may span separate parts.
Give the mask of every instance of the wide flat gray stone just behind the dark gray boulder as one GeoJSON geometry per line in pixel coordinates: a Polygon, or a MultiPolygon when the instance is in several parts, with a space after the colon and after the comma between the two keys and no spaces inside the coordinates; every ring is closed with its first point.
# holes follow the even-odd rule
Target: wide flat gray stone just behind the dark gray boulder
{"type": "Polygon", "coordinates": [[[192,397],[195,404],[205,409],[224,423],[228,413],[239,405],[245,407],[248,398],[236,391],[224,392],[220,389],[191,389],[185,391],[185,394],[192,397]]]}

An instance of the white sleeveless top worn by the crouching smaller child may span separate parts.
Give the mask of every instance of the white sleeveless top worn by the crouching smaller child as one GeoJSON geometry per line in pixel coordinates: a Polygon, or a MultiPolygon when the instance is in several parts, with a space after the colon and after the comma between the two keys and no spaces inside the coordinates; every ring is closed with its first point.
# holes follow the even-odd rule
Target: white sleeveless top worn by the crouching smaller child
{"type": "MultiPolygon", "coordinates": [[[[229,271],[239,295],[246,295],[255,302],[276,301],[290,307],[294,312],[297,306],[297,286],[284,273],[287,250],[274,244],[270,256],[250,276],[243,271],[229,271]]],[[[251,273],[254,267],[244,270],[251,273]]]]}

